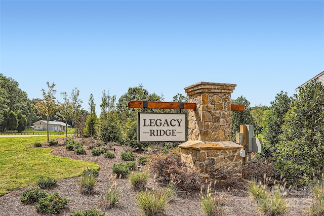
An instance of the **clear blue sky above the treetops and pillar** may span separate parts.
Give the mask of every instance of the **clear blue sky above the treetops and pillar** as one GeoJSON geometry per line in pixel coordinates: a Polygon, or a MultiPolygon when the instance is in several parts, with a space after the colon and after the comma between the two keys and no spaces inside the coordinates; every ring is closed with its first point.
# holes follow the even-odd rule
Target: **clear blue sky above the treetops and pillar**
{"type": "Polygon", "coordinates": [[[172,101],[199,81],[269,106],[324,70],[324,1],[0,1],[1,71],[30,99],[117,99],[142,84],[172,101]]]}

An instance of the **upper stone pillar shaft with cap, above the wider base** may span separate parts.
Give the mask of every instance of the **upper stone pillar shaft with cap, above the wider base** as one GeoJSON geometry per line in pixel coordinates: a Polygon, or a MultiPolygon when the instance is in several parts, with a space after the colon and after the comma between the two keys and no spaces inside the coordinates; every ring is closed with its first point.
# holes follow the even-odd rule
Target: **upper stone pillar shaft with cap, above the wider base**
{"type": "Polygon", "coordinates": [[[188,140],[203,142],[231,141],[231,93],[236,84],[198,82],[184,88],[189,103],[188,140]]]}

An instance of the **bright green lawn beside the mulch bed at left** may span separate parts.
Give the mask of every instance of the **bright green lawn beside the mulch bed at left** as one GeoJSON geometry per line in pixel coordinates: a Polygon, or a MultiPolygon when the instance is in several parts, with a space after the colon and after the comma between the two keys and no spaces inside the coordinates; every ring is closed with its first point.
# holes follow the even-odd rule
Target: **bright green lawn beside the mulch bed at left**
{"type": "MultiPolygon", "coordinates": [[[[64,179],[80,175],[84,168],[99,168],[88,161],[52,156],[53,149],[27,148],[37,137],[0,138],[0,196],[37,184],[40,176],[64,179]]],[[[46,142],[39,137],[37,142],[46,142]]]]}

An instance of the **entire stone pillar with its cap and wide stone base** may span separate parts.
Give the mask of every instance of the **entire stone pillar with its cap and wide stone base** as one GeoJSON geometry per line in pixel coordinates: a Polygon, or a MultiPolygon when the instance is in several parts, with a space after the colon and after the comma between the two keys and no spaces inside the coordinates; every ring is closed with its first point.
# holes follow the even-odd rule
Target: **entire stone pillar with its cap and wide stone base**
{"type": "Polygon", "coordinates": [[[188,141],[181,144],[181,159],[208,173],[218,162],[237,165],[242,146],[231,140],[231,93],[236,84],[198,82],[184,90],[196,110],[189,110],[188,141]]]}

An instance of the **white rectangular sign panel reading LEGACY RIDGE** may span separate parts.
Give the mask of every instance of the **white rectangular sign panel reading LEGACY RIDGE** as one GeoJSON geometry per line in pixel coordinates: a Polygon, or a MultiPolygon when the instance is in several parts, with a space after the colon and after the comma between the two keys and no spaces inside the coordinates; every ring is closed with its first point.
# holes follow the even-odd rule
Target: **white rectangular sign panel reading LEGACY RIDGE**
{"type": "Polygon", "coordinates": [[[139,143],[186,141],[186,114],[138,113],[137,141],[139,143]]]}

